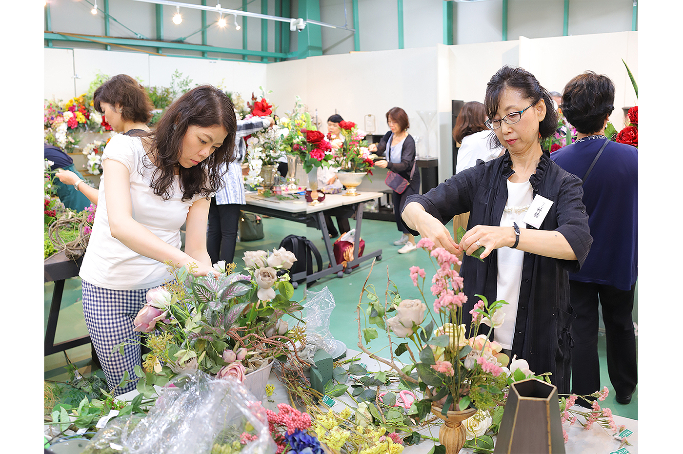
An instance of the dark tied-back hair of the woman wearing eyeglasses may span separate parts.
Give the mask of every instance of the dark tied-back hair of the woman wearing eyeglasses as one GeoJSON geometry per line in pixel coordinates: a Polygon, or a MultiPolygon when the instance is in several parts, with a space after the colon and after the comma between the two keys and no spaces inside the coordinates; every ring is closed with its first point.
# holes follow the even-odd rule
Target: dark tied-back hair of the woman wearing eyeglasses
{"type": "MultiPolygon", "coordinates": [[[[505,65],[488,81],[486,84],[486,98],[484,98],[488,118],[493,118],[496,115],[501,94],[503,94],[506,88],[519,90],[522,96],[533,100],[534,104],[543,99],[546,104],[546,116],[538,125],[538,132],[541,133],[539,140],[547,139],[555,134],[557,130],[557,111],[553,109],[553,98],[548,93],[548,90],[538,83],[534,75],[524,68],[512,68],[512,66],[505,65]]],[[[490,139],[490,145],[492,146],[491,148],[502,146],[495,134],[490,139]]]]}

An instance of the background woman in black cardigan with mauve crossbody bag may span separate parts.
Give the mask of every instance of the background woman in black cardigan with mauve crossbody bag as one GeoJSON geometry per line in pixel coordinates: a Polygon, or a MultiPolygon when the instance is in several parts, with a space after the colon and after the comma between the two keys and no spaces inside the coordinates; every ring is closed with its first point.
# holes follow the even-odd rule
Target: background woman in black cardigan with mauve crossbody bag
{"type": "Polygon", "coordinates": [[[368,147],[370,152],[376,152],[379,156],[385,156],[388,159],[381,159],[376,161],[375,165],[379,168],[387,168],[391,172],[395,172],[410,181],[410,185],[403,193],[393,191],[391,202],[393,203],[393,213],[396,218],[396,226],[402,232],[401,238],[393,243],[397,246],[403,245],[399,254],[406,254],[406,252],[417,249],[415,246],[415,237],[408,232],[406,226],[401,222],[401,211],[408,196],[419,193],[420,189],[420,172],[413,171],[415,165],[415,139],[408,134],[408,115],[406,111],[400,107],[393,107],[387,112],[387,123],[389,124],[389,131],[380,140],[379,144],[372,144],[368,147]],[[387,150],[387,144],[389,149],[387,150]],[[412,176],[410,175],[412,173],[412,176]]]}

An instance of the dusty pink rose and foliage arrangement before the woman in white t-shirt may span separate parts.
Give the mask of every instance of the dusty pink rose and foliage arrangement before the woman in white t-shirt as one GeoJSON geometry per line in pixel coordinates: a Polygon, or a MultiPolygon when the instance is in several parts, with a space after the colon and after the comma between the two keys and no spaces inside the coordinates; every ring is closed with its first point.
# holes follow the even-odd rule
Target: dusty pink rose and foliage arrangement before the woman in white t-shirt
{"type": "Polygon", "coordinates": [[[184,371],[242,382],[273,358],[281,360],[283,373],[303,377],[295,344],[303,330],[290,330],[282,319],[285,314],[298,319],[294,312],[302,309],[290,300],[294,287],[286,272],[296,257],[280,248],[270,254],[248,251],[244,260],[247,273],[234,273],[234,264],[220,262],[214,265],[217,277],[193,277],[191,269],[169,265],[174,281],[148,291],[133,321],[151,350],[143,367],[136,367],[137,389],[145,397],[154,394],[152,385],[163,386],[184,371]]]}

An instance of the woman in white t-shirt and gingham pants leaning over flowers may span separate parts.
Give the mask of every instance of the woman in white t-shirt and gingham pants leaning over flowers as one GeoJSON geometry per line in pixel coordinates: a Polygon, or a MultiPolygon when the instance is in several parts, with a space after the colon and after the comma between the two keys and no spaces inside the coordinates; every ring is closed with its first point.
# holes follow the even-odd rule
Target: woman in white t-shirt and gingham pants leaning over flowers
{"type": "Polygon", "coordinates": [[[201,85],[178,98],[154,131],[115,135],[104,149],[97,215],[79,276],[85,322],[114,395],[135,389],[141,358],[133,320],[147,291],[172,279],[164,262],[193,266],[195,276],[213,270],[206,252],[209,198],[221,186],[221,164],[233,159],[235,131],[232,102],[201,85]],[[115,349],[120,343],[127,344],[123,355],[115,349]],[[132,380],[119,388],[125,371],[132,380]]]}

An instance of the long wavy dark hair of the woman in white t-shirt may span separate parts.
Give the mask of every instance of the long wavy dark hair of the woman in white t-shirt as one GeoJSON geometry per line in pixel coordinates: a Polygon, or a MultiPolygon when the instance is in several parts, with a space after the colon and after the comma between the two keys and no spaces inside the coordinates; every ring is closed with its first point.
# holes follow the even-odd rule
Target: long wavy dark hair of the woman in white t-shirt
{"type": "Polygon", "coordinates": [[[150,184],[154,193],[163,200],[171,198],[171,186],[178,169],[182,200],[189,200],[197,193],[209,198],[221,188],[221,177],[227,172],[227,163],[234,160],[236,131],[235,109],[230,98],[212,85],[199,85],[169,106],[154,131],[139,131],[133,135],[151,139],[151,156],[157,167],[150,184]],[[227,136],[208,158],[186,169],[178,161],[188,126],[223,126],[227,136]],[[223,172],[222,164],[226,164],[223,172]]]}

